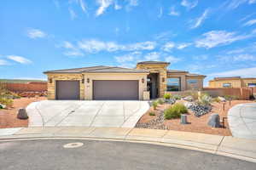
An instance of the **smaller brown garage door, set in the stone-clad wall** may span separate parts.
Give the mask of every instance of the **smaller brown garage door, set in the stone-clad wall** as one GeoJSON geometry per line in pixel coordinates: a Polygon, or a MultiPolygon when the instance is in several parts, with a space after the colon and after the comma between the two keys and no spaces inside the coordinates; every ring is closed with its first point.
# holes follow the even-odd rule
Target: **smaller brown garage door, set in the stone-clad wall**
{"type": "Polygon", "coordinates": [[[79,81],[56,81],[56,99],[80,99],[79,81]]]}

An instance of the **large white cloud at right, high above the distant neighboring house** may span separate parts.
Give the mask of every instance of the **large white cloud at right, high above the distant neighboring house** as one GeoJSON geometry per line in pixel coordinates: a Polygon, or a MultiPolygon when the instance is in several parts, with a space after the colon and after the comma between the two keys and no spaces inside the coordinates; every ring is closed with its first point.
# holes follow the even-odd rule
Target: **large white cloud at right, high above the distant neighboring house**
{"type": "Polygon", "coordinates": [[[204,33],[201,39],[195,41],[197,48],[214,48],[219,45],[227,45],[248,37],[253,37],[255,33],[247,35],[236,35],[236,32],[228,31],[208,31],[204,33]]]}

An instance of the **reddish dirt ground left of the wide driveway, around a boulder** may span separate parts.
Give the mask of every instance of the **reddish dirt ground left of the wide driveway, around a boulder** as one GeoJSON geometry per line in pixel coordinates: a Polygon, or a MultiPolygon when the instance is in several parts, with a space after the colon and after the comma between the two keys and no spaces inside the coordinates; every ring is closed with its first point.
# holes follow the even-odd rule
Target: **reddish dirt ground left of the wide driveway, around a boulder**
{"type": "Polygon", "coordinates": [[[39,98],[20,98],[14,99],[14,105],[10,109],[0,110],[0,128],[7,127],[27,127],[28,120],[20,120],[17,118],[17,111],[21,107],[26,107],[34,101],[44,100],[45,97],[39,98]]]}

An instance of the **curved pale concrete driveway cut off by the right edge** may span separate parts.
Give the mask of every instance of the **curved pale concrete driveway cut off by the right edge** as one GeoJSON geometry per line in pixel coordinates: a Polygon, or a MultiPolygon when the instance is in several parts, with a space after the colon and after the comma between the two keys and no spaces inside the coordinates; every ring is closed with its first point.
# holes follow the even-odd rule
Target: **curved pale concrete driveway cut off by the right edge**
{"type": "Polygon", "coordinates": [[[234,137],[256,139],[256,103],[232,107],[228,113],[228,122],[234,137]]]}

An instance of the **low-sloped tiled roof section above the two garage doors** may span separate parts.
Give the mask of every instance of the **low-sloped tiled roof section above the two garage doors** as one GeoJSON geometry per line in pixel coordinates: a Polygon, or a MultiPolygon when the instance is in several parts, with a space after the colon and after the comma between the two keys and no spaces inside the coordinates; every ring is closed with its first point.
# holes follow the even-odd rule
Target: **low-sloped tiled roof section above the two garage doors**
{"type": "Polygon", "coordinates": [[[75,68],[75,69],[65,69],[65,70],[55,70],[55,71],[45,71],[44,74],[48,73],[147,73],[147,70],[137,70],[137,69],[129,69],[122,67],[111,67],[111,66],[93,66],[93,67],[83,67],[83,68],[75,68]]]}

